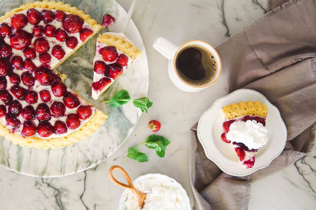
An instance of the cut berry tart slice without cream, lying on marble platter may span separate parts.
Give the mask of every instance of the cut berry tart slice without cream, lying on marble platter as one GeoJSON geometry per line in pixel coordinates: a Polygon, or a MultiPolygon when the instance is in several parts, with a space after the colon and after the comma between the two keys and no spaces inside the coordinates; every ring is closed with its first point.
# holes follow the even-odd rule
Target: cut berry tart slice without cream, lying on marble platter
{"type": "Polygon", "coordinates": [[[98,99],[141,54],[123,33],[101,34],[93,60],[92,98],[98,99]]]}

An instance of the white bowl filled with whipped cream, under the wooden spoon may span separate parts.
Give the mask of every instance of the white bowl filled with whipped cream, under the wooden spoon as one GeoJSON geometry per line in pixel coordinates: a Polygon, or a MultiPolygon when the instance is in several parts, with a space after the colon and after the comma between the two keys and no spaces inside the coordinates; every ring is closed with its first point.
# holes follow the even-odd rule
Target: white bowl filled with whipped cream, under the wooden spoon
{"type": "MultiPolygon", "coordinates": [[[[181,184],[159,173],[138,177],[133,185],[147,193],[142,210],[190,210],[190,200],[181,184]]],[[[119,210],[139,210],[136,196],[125,190],[119,202],[119,210]]]]}

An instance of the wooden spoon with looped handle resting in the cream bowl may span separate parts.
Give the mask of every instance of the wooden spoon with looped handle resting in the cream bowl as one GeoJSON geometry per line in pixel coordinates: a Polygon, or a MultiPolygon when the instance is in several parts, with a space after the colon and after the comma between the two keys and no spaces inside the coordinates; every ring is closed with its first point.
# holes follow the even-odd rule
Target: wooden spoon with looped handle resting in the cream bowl
{"type": "Polygon", "coordinates": [[[146,193],[142,193],[141,191],[137,190],[137,189],[134,187],[134,185],[133,185],[133,183],[132,183],[132,181],[131,181],[130,176],[129,176],[128,173],[124,170],[124,168],[122,168],[122,167],[120,167],[120,166],[117,166],[117,165],[112,166],[112,167],[110,167],[110,169],[109,169],[109,171],[108,171],[108,175],[109,175],[110,180],[111,180],[114,184],[116,184],[116,185],[118,185],[118,186],[120,186],[120,187],[123,187],[123,188],[125,188],[125,189],[127,189],[127,190],[131,190],[131,191],[136,195],[136,197],[137,197],[138,206],[139,206],[141,209],[143,208],[147,194],[146,194],[146,193]],[[113,176],[113,171],[114,171],[114,170],[118,170],[118,171],[120,171],[121,173],[123,173],[123,175],[125,176],[125,179],[127,180],[128,185],[127,185],[127,184],[124,184],[124,183],[122,183],[122,182],[119,182],[117,179],[114,178],[114,176],[113,176]]]}

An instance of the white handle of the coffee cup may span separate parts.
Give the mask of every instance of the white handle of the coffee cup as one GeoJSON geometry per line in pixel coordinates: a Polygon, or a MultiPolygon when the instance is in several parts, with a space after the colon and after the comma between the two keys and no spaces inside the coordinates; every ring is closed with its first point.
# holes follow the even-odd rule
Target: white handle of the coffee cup
{"type": "Polygon", "coordinates": [[[171,43],[169,40],[165,39],[164,37],[157,37],[155,42],[153,43],[153,47],[165,56],[168,60],[173,59],[174,55],[178,50],[178,46],[171,43]]]}

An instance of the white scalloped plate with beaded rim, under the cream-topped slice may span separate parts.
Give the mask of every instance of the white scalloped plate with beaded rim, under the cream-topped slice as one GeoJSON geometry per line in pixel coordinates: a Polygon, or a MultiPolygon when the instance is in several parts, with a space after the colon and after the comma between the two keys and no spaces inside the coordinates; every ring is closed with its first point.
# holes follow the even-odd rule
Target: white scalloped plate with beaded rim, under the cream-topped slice
{"type": "Polygon", "coordinates": [[[197,136],[200,140],[206,156],[225,173],[233,176],[246,176],[269,164],[281,154],[287,139],[287,129],[279,110],[268,99],[257,91],[239,89],[231,94],[217,99],[214,104],[203,113],[197,126],[197,136]],[[268,108],[266,128],[268,130],[268,142],[258,149],[256,161],[252,168],[245,169],[240,165],[234,147],[222,141],[224,133],[222,123],[224,116],[221,108],[240,101],[259,101],[268,108]]]}

